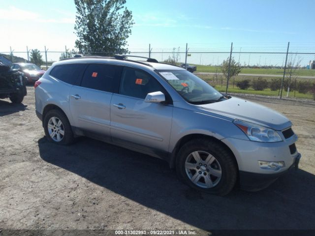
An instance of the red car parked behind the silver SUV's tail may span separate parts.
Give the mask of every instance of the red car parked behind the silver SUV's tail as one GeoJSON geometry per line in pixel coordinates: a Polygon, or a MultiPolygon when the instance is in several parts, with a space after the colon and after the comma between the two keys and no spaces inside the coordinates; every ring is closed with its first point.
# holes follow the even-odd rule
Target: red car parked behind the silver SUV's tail
{"type": "Polygon", "coordinates": [[[32,63],[14,63],[13,69],[22,72],[29,84],[37,81],[45,73],[43,69],[32,63]]]}

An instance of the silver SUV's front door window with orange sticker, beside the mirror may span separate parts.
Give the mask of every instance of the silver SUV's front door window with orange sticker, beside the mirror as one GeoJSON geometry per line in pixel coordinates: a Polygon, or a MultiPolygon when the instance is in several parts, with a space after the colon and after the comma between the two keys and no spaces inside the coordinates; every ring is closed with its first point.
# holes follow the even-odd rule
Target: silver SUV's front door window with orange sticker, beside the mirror
{"type": "Polygon", "coordinates": [[[122,73],[119,93],[145,99],[150,92],[164,91],[158,81],[148,73],[125,67],[122,73]]]}

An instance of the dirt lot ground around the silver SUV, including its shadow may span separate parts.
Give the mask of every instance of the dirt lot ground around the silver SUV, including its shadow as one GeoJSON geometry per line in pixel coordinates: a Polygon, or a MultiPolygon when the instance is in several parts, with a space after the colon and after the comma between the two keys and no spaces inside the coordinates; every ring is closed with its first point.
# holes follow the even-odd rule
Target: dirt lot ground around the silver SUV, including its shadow
{"type": "Polygon", "coordinates": [[[250,98],[290,118],[300,170],[260,192],[190,190],[159,159],[88,138],[46,141],[34,89],[0,100],[2,229],[315,229],[315,104],[250,98]]]}

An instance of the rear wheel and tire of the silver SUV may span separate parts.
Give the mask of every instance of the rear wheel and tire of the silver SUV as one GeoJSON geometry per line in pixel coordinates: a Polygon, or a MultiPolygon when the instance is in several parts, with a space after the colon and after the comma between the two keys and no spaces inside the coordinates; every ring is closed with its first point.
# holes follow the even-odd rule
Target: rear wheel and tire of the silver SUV
{"type": "Polygon", "coordinates": [[[48,111],[44,117],[43,126],[49,142],[59,145],[69,145],[74,142],[71,125],[62,111],[48,111]]]}

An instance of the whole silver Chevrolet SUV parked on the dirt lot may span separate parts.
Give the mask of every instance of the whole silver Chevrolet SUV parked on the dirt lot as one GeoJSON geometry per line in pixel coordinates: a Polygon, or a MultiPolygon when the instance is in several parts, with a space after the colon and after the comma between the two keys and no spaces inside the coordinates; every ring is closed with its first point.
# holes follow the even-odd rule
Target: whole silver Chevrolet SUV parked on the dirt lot
{"type": "Polygon", "coordinates": [[[217,195],[237,184],[265,188],[301,157],[286,117],[154,59],[56,62],[35,83],[35,99],[49,141],[88,136],[158,157],[190,187],[217,195]]]}

